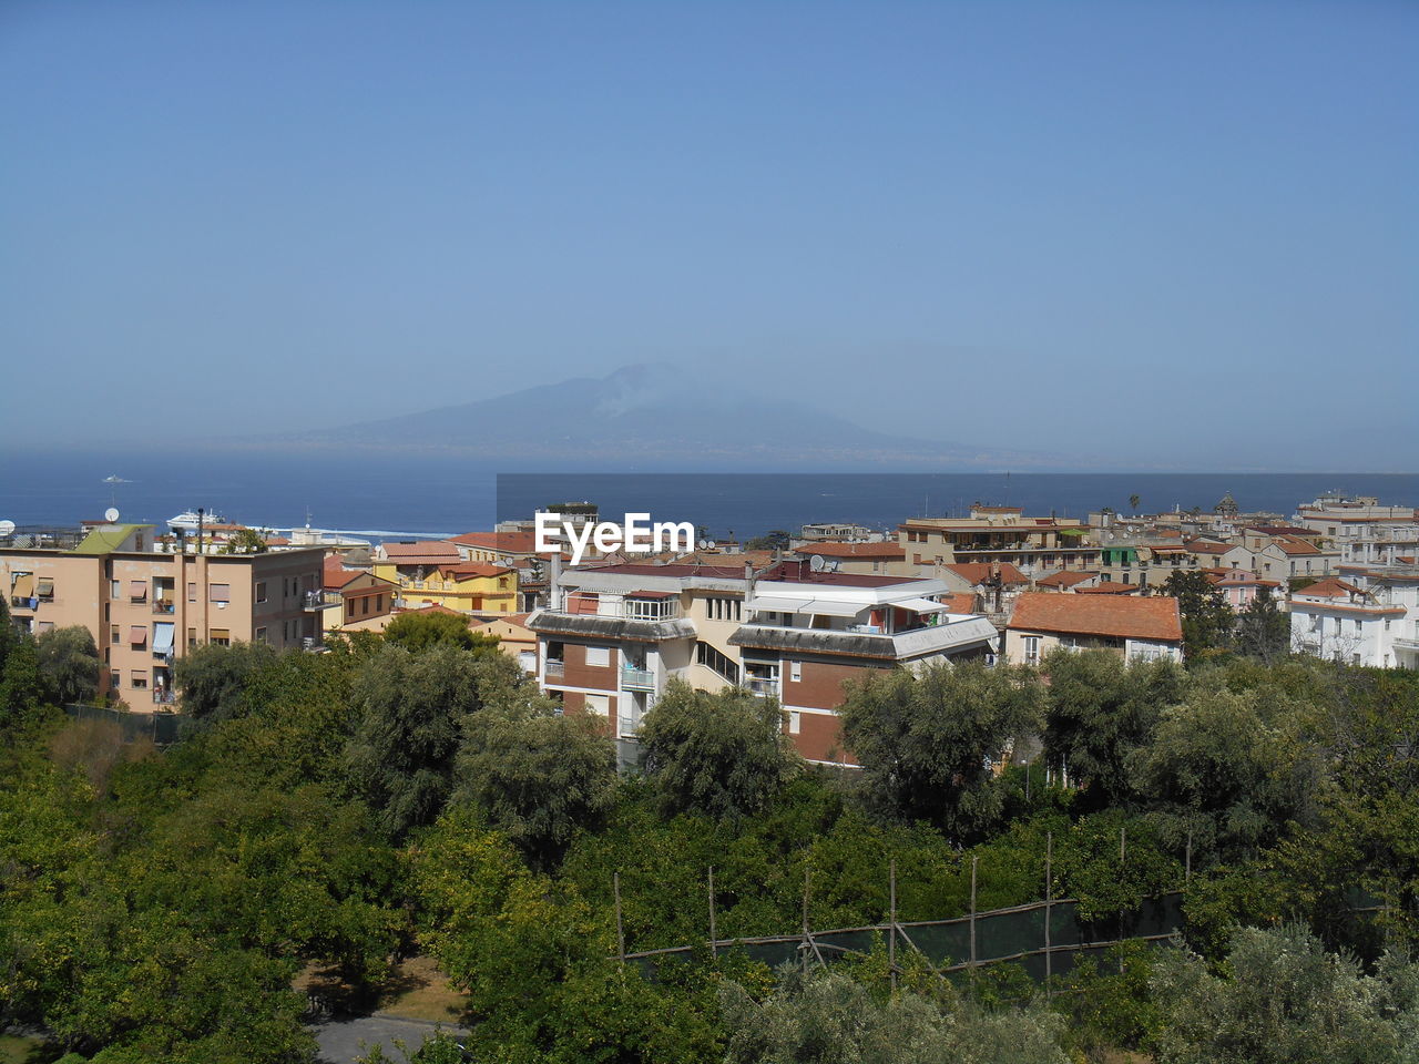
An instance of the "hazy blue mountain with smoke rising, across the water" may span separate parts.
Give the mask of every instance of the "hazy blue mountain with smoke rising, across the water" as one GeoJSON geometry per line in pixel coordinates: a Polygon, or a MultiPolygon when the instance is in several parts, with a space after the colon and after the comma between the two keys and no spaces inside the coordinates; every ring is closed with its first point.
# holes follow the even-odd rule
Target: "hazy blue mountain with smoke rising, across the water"
{"type": "Polygon", "coordinates": [[[629,468],[1053,468],[1056,457],[864,428],[793,397],[792,382],[705,384],[668,366],[539,384],[417,414],[272,440],[282,447],[443,451],[504,462],[629,468]]]}

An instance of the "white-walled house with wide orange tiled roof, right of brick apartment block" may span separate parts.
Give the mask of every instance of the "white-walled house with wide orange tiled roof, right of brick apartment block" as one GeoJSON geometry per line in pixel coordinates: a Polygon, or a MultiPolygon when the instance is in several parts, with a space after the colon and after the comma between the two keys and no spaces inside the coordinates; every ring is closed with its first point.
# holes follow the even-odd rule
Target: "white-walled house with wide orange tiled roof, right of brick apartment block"
{"type": "Polygon", "coordinates": [[[1051,650],[1111,650],[1134,661],[1182,660],[1178,600],[1117,594],[1027,592],[1015,602],[1005,657],[1037,665],[1051,650]]]}

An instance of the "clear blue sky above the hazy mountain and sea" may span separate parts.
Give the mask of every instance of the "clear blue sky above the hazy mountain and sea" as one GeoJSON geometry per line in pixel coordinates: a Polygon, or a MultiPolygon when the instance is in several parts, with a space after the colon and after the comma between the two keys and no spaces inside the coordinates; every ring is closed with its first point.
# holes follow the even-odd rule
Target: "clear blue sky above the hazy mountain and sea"
{"type": "Polygon", "coordinates": [[[1415,3],[0,3],[11,443],[661,362],[1413,471],[1416,220],[1415,3]]]}

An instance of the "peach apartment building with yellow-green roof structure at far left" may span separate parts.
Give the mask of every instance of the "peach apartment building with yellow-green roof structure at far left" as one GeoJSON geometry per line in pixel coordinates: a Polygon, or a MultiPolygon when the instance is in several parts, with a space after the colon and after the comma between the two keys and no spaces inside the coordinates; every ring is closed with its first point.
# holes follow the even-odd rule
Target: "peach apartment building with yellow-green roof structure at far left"
{"type": "Polygon", "coordinates": [[[170,704],[173,661],[200,644],[319,643],[324,549],[173,553],[152,525],[95,525],[53,543],[0,545],[14,623],[35,636],[88,628],[102,660],[99,694],[133,709],[170,704]]]}

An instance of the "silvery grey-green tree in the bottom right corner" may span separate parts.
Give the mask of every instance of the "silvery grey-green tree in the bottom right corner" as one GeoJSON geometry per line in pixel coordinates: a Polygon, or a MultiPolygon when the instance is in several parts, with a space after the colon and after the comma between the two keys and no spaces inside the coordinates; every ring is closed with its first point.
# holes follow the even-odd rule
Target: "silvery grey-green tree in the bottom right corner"
{"type": "Polygon", "coordinates": [[[1415,966],[1388,958],[1366,976],[1298,926],[1243,928],[1230,977],[1186,951],[1158,955],[1154,1000],[1161,1064],[1399,1064],[1419,1030],[1415,966]]]}

